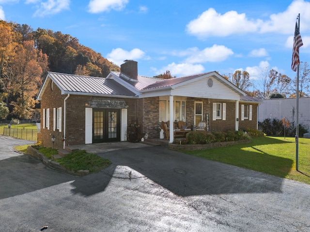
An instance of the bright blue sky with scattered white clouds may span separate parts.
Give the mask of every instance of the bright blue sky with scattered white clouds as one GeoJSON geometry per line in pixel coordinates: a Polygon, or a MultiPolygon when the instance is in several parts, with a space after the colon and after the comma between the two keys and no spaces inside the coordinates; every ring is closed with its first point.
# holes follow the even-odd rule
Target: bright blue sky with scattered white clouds
{"type": "Polygon", "coordinates": [[[307,0],[0,0],[0,18],[61,31],[120,65],[138,61],[140,75],[177,77],[266,70],[291,78],[296,16],[310,62],[307,0]]]}

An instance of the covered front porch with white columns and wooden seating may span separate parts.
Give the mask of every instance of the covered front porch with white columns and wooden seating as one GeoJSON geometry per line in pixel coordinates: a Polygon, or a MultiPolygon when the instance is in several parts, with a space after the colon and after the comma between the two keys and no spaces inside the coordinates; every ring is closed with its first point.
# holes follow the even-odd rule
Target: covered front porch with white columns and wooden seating
{"type": "MultiPolygon", "coordinates": [[[[239,101],[205,99],[183,96],[159,97],[159,123],[166,123],[169,130],[169,143],[186,132],[203,132],[239,129],[239,101]],[[172,112],[172,113],[171,113],[172,112]],[[172,122],[172,123],[171,123],[172,122]],[[183,126],[180,126],[183,122],[183,126]],[[202,124],[203,122],[203,124],[202,124]],[[173,130],[170,130],[173,125],[173,130]],[[201,126],[205,128],[201,128],[201,126]]],[[[166,132],[166,131],[165,131],[166,132]]]]}

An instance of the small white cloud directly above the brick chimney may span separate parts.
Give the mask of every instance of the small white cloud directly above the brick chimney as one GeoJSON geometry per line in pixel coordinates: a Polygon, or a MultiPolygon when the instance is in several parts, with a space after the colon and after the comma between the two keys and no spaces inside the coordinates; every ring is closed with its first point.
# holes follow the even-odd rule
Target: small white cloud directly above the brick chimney
{"type": "Polygon", "coordinates": [[[145,53],[139,48],[134,48],[131,51],[123,50],[122,48],[115,48],[107,55],[107,59],[117,65],[124,63],[125,59],[140,59],[145,56],[145,53]]]}

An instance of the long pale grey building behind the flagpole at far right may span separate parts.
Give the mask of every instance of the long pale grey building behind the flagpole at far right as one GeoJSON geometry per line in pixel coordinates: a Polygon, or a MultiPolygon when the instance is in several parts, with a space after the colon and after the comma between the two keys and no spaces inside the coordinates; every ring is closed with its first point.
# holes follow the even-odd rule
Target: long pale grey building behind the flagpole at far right
{"type": "MultiPolygon", "coordinates": [[[[259,105],[258,121],[263,122],[266,118],[289,120],[296,125],[296,98],[265,99],[259,105]]],[[[310,98],[298,98],[298,124],[310,128],[310,98]]]]}

